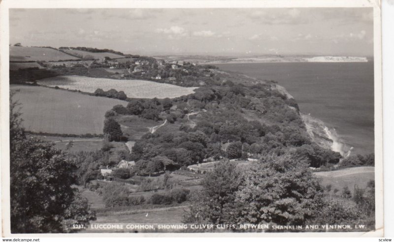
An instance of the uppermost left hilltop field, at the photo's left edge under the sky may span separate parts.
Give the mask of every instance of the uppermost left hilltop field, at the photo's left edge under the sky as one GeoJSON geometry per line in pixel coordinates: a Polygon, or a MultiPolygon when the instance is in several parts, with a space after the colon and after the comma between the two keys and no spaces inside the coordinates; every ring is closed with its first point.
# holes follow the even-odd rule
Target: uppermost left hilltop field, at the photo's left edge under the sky
{"type": "Polygon", "coordinates": [[[9,60],[10,61],[29,61],[29,60],[77,60],[78,58],[67,55],[61,51],[51,48],[39,47],[9,47],[9,60]]]}

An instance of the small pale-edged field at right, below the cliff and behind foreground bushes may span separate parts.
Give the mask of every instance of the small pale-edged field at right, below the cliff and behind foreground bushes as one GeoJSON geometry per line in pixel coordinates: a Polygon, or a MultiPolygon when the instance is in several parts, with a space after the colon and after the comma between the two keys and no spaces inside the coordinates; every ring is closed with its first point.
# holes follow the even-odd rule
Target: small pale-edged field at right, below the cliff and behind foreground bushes
{"type": "Polygon", "coordinates": [[[375,167],[353,167],[331,172],[315,172],[315,176],[322,178],[323,186],[331,185],[331,191],[335,188],[342,192],[344,186],[352,191],[354,186],[365,188],[370,180],[375,180],[375,167]]]}

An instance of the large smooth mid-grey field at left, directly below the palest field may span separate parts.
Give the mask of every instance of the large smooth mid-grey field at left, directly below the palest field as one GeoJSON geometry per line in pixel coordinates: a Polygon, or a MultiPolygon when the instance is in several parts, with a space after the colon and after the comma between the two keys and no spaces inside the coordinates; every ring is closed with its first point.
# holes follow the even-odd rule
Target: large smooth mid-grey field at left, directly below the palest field
{"type": "Polygon", "coordinates": [[[125,101],[77,92],[10,85],[10,90],[18,89],[14,100],[22,104],[23,125],[34,132],[101,134],[105,112],[116,104],[127,105],[125,101]]]}

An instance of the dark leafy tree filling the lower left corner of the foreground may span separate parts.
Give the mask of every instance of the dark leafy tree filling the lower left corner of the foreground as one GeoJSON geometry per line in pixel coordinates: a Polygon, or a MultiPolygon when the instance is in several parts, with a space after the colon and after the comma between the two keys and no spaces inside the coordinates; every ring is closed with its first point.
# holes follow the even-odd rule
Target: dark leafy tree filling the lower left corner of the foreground
{"type": "Polygon", "coordinates": [[[72,187],[75,165],[53,144],[26,137],[17,106],[11,94],[11,233],[63,233],[70,232],[70,221],[88,224],[96,216],[72,187]]]}

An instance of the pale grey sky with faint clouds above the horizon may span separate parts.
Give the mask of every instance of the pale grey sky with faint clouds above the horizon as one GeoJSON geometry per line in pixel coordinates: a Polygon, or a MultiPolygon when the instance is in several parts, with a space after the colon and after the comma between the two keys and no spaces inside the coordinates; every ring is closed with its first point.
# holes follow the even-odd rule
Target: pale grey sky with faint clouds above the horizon
{"type": "Polygon", "coordinates": [[[372,8],[10,9],[10,44],[142,55],[373,55],[372,8]]]}

